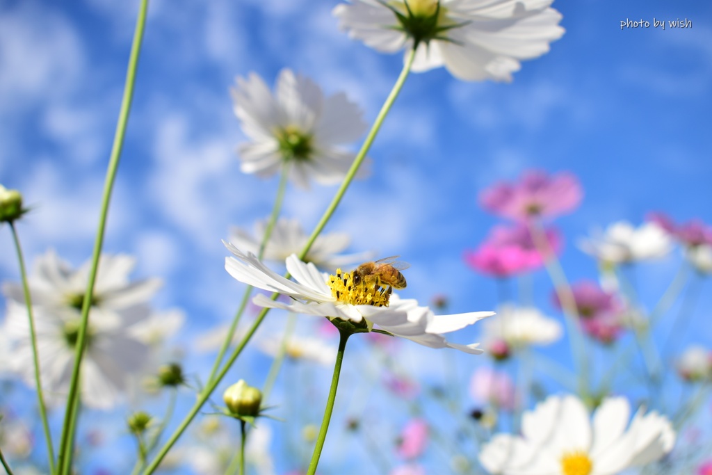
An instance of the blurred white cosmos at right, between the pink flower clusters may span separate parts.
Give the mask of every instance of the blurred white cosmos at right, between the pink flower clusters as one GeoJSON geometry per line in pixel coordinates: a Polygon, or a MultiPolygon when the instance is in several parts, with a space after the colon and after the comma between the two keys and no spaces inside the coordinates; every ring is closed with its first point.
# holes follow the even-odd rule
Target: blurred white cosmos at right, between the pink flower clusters
{"type": "Polygon", "coordinates": [[[617,221],[604,232],[580,239],[578,246],[600,261],[626,263],[665,256],[672,249],[672,240],[654,222],[635,228],[627,221],[617,221]]]}

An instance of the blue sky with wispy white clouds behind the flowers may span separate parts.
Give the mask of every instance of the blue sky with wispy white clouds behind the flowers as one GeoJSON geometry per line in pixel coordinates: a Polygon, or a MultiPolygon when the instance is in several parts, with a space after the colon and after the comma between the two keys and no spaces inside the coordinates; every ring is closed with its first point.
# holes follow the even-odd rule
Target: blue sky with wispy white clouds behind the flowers
{"type": "MultiPolygon", "coordinates": [[[[272,84],[293,68],[327,93],[345,90],[368,122],[397,77],[400,56],[338,31],[335,4],[150,6],[105,249],[137,255],[137,276],[164,278],[157,306],[185,310],[187,343],[188,330],[236,308],[241,291],[224,271],[220,239],[229,226],[251,228],[266,216],[276,189],[276,179],[239,172],[235,76],[255,71],[272,84]]],[[[496,305],[494,283],[461,255],[498,222],[478,208],[478,192],[532,167],[574,172],[585,190],[580,209],[556,223],[572,281],[596,277],[573,244],[595,226],[638,224],[654,210],[712,223],[712,5],[553,6],[565,35],[524,62],[511,84],[463,83],[444,70],[412,75],[372,147],[370,178],[352,186],[329,224],[352,234],[352,251],[411,263],[405,296],[446,293],[453,312],[496,305]],[[686,18],[692,27],[620,28],[654,18],[686,18]]],[[[0,2],[0,182],[34,207],[19,226],[30,261],[49,247],[76,265],[90,255],[136,11],[133,0],[0,2]]],[[[289,189],[284,215],[310,229],[334,191],[289,189]]],[[[10,245],[0,233],[0,247],[10,245]]],[[[678,263],[673,254],[639,271],[649,306],[678,263]]],[[[0,280],[16,278],[14,255],[0,254],[0,280]]],[[[535,289],[550,310],[543,273],[535,289]]],[[[702,323],[711,300],[703,291],[693,317],[701,343],[712,343],[702,323]]]]}

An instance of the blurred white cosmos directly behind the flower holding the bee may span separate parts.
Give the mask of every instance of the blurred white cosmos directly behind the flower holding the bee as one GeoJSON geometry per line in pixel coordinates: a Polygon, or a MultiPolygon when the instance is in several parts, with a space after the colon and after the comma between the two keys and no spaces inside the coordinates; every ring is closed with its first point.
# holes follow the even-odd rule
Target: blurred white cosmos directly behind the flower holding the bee
{"type": "MultiPolygon", "coordinates": [[[[230,242],[245,252],[258,254],[266,226],[266,220],[258,221],[255,224],[254,235],[234,227],[231,229],[230,242]]],[[[308,234],[305,234],[297,219],[280,218],[275,223],[270,239],[265,246],[264,259],[283,262],[288,256],[299,254],[308,240],[308,234]]],[[[372,253],[369,252],[340,254],[350,244],[351,238],[347,233],[321,234],[317,236],[304,261],[313,262],[318,268],[333,271],[337,267],[372,258],[372,253]]]]}

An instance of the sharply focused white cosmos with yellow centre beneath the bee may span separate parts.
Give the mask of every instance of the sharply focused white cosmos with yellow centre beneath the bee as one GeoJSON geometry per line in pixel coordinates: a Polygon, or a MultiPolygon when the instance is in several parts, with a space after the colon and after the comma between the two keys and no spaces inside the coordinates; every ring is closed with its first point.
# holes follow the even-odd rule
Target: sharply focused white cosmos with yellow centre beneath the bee
{"type": "MultiPolygon", "coordinates": [[[[243,253],[225,243],[234,257],[225,259],[226,271],[238,281],[266,291],[278,292],[294,299],[292,303],[272,301],[263,294],[253,303],[268,308],[281,308],[293,313],[365,323],[368,330],[376,325],[392,335],[408,338],[430,348],[455,348],[465,353],[482,353],[478,343],[460,345],[450,343],[442,335],[465,328],[493,312],[434,315],[428,307],[419,306],[413,299],[401,299],[377,285],[355,282],[353,273],[327,276],[313,263],[303,263],[297,256],[286,259],[287,271],[295,278],[290,281],[272,271],[254,254],[243,253]]],[[[365,280],[365,279],[363,279],[365,280]]],[[[390,288],[389,288],[390,289],[390,288]]]]}

